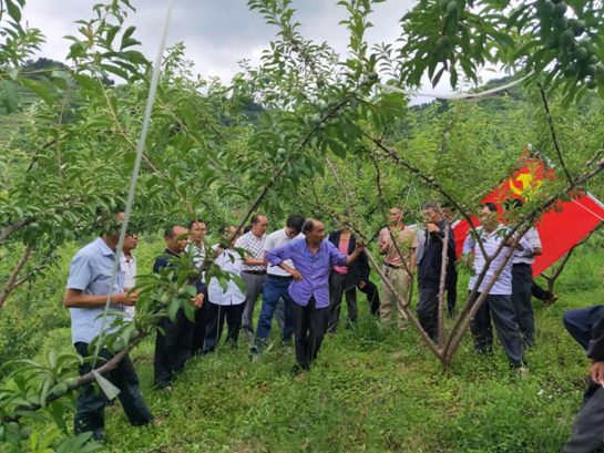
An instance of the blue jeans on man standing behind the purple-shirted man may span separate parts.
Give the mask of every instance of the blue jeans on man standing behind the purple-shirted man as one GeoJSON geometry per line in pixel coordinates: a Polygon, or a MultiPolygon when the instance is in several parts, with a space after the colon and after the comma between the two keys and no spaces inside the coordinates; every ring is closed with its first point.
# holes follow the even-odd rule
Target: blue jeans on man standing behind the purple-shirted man
{"type": "Polygon", "coordinates": [[[258,319],[258,328],[256,329],[256,347],[262,341],[266,341],[270,334],[270,325],[273,323],[273,317],[275,316],[275,309],[279,298],[283,298],[285,302],[285,325],[283,329],[283,341],[289,341],[294,334],[294,325],[291,323],[291,316],[289,315],[289,305],[291,298],[289,297],[290,279],[278,279],[270,275],[267,276],[264,282],[263,291],[263,308],[260,310],[260,318],[258,319]]]}

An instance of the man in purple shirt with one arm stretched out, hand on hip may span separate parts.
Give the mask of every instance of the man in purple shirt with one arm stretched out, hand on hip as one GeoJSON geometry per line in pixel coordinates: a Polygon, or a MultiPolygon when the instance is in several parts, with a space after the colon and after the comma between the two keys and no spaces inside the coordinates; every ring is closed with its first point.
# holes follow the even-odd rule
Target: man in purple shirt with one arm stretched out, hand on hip
{"type": "Polygon", "coordinates": [[[308,219],[303,225],[305,239],[296,239],[266,253],[273,266],[279,266],[294,277],[289,296],[294,303],[290,315],[296,334],[296,361],[305,370],[317,358],[329,319],[329,271],[334,266],[354,262],[364,250],[358,243],[352,255],[341,255],[325,238],[325,226],[308,219]],[[291,259],[295,269],[284,261],[291,259]]]}

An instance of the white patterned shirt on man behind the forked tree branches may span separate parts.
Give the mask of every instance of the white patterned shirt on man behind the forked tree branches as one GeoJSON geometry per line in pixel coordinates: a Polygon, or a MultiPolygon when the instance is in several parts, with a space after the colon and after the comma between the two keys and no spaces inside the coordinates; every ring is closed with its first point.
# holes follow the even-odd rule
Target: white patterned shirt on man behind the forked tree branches
{"type": "MultiPolygon", "coordinates": [[[[505,234],[506,234],[506,227],[502,224],[499,224],[498,228],[491,233],[490,235],[487,235],[487,233],[483,230],[482,227],[477,228],[479,234],[482,238],[482,244],[484,246],[484,250],[489,256],[493,256],[500,246],[501,241],[503,240],[505,234]]],[[[520,239],[520,244],[522,247],[524,247],[525,253],[532,253],[533,249],[531,247],[531,244],[523,237],[520,239]]],[[[505,253],[508,251],[509,247],[503,247],[501,253],[496,256],[493,261],[491,261],[491,265],[489,266],[489,270],[487,270],[487,275],[482,279],[482,282],[479,287],[479,292],[482,292],[493,275],[495,274],[496,269],[501,265],[501,261],[503,261],[503,258],[505,256],[505,253]]],[[[470,290],[474,287],[478,276],[480,272],[482,272],[482,269],[484,268],[485,259],[482,255],[482,250],[480,246],[475,243],[475,240],[472,238],[472,235],[468,235],[465,238],[465,243],[463,243],[463,253],[474,253],[474,272],[475,275],[470,279],[470,290]]],[[[500,274],[499,278],[496,279],[495,284],[489,291],[490,295],[511,295],[512,294],[512,260],[510,259],[505,267],[503,268],[503,271],[500,274]]]]}

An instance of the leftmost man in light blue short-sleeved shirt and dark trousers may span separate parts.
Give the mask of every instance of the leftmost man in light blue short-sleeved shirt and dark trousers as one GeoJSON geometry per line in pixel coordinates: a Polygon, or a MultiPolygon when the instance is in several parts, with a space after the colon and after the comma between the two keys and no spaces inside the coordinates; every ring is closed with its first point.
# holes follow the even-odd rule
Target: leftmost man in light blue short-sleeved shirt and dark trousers
{"type": "MultiPolygon", "coordinates": [[[[123,214],[123,212],[116,214],[117,222],[121,222],[123,214]]],[[[120,233],[114,229],[80,249],[70,265],[63,305],[70,309],[73,346],[82,357],[90,356],[89,344],[101,333],[100,315],[104,312],[110,291],[119,240],[120,233]]],[[[110,311],[123,311],[122,306],[133,307],[136,303],[136,295],[129,296],[123,288],[124,278],[119,269],[115,284],[111,288],[110,311]]],[[[108,317],[105,326],[110,326],[115,316],[108,317]]],[[[109,328],[106,330],[109,331],[109,328]]],[[[105,360],[113,358],[106,349],[101,350],[100,356],[105,360]]],[[[96,368],[103,363],[96,363],[96,368]]],[[[91,363],[80,367],[80,375],[90,371],[91,363]]],[[[139,426],[153,421],[153,415],[139,391],[139,377],[129,356],[104,377],[120,389],[119,398],[132,425],[139,426]]],[[[84,385],[76,400],[75,434],[91,431],[94,440],[102,440],[106,403],[108,398],[102,390],[96,392],[92,383],[84,385]]]]}

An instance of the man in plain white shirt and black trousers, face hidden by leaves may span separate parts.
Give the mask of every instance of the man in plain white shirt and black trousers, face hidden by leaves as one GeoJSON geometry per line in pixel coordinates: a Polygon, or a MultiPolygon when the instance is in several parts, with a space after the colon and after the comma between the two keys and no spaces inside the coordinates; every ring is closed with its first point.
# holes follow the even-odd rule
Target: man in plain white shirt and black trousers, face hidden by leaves
{"type": "MultiPolygon", "coordinates": [[[[237,228],[235,225],[231,225],[228,228],[221,227],[218,234],[224,236],[226,234],[232,235],[237,228]]],[[[224,249],[221,245],[216,245],[214,249],[224,249]]],[[[239,254],[233,250],[232,245],[228,249],[224,250],[214,261],[221,267],[224,272],[231,272],[235,277],[242,277],[243,261],[239,254]]],[[[237,346],[239,339],[239,330],[242,328],[242,309],[245,301],[245,296],[240,291],[235,280],[229,280],[226,289],[221,286],[221,282],[216,277],[209,280],[207,289],[209,295],[209,303],[207,303],[207,330],[205,336],[205,347],[203,354],[207,354],[216,350],[216,346],[221,341],[223,336],[223,327],[226,318],[227,334],[226,343],[232,343],[233,347],[237,346]]]]}

